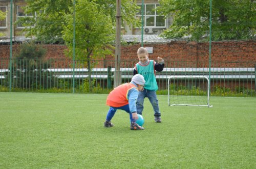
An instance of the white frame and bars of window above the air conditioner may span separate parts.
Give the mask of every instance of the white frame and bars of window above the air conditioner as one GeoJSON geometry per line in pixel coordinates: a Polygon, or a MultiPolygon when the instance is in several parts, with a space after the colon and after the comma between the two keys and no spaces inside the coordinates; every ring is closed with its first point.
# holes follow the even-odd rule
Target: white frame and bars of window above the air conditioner
{"type": "MultiPolygon", "coordinates": [[[[138,6],[141,6],[141,4],[137,4],[138,6]]],[[[146,6],[147,5],[155,5],[155,9],[157,7],[157,5],[159,4],[156,4],[156,3],[150,3],[150,4],[144,4],[144,27],[152,27],[152,28],[166,28],[166,19],[164,19],[164,26],[156,26],[156,23],[157,23],[157,16],[164,16],[164,15],[157,15],[157,11],[155,11],[155,14],[154,15],[146,15],[146,6]],[[146,25],[146,17],[154,17],[154,26],[147,26],[146,25]]],[[[141,15],[137,15],[136,14],[136,17],[141,17],[141,15]]]]}

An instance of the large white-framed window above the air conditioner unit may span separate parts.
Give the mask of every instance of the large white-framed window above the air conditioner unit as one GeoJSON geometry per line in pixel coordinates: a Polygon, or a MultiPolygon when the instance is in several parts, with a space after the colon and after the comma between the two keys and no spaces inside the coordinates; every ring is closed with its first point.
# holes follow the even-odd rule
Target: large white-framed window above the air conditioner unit
{"type": "MultiPolygon", "coordinates": [[[[140,11],[136,14],[136,17],[141,20],[141,5],[140,11]]],[[[145,27],[165,27],[165,18],[163,15],[159,15],[157,11],[155,11],[156,7],[159,4],[145,4],[144,5],[144,26],[145,27]]]]}

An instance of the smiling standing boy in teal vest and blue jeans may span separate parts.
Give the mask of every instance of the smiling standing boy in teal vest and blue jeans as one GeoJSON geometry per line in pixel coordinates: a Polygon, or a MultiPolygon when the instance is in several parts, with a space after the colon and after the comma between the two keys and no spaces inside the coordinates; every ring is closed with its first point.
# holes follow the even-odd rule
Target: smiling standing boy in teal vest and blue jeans
{"type": "Polygon", "coordinates": [[[160,57],[157,62],[148,59],[147,49],[140,47],[137,51],[139,62],[134,67],[133,74],[141,74],[145,79],[145,86],[139,91],[136,102],[137,114],[142,115],[144,98],[147,97],[154,109],[155,122],[161,123],[161,113],[159,110],[156,91],[158,90],[156,71],[161,72],[164,67],[164,60],[160,57]]]}

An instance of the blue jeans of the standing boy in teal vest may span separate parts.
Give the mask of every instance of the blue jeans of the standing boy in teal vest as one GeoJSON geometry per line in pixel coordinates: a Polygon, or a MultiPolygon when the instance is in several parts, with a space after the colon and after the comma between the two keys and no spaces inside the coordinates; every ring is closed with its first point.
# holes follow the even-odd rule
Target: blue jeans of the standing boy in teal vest
{"type": "Polygon", "coordinates": [[[143,108],[144,108],[143,104],[144,104],[144,98],[145,97],[147,97],[148,100],[150,100],[150,103],[153,106],[154,116],[155,117],[160,117],[161,112],[159,110],[156,91],[147,90],[147,89],[144,89],[143,91],[139,91],[139,96],[138,96],[138,99],[137,99],[137,102],[136,102],[137,114],[142,115],[142,111],[143,111],[143,108]]]}

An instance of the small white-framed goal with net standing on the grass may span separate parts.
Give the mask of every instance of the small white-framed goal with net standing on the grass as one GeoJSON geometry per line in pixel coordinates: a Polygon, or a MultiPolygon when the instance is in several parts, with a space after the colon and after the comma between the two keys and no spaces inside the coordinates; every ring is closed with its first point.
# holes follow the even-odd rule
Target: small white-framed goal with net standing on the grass
{"type": "Polygon", "coordinates": [[[168,105],[208,106],[209,79],[205,76],[170,76],[168,105]]]}

